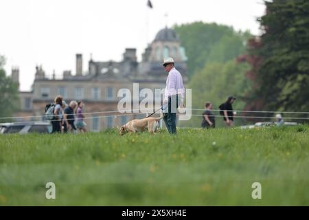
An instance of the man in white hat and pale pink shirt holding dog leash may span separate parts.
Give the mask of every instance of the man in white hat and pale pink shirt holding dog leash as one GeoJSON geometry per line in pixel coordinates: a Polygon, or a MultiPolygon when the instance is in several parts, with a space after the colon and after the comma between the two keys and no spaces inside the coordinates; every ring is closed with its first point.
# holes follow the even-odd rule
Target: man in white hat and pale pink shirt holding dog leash
{"type": "Polygon", "coordinates": [[[168,132],[176,134],[176,110],[179,107],[180,102],[183,101],[183,94],[185,91],[183,87],[183,78],[179,71],[174,67],[173,58],[165,58],[163,61],[163,67],[165,72],[168,72],[165,98],[162,107],[162,110],[165,110],[163,120],[168,128],[168,132]],[[168,112],[166,112],[166,109],[168,112]]]}

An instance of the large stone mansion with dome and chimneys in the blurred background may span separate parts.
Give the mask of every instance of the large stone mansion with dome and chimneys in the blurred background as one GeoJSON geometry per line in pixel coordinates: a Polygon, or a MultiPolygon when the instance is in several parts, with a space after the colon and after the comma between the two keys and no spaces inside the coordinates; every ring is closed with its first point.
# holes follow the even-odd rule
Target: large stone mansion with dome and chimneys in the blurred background
{"type": "MultiPolygon", "coordinates": [[[[41,117],[45,114],[45,105],[60,95],[67,104],[71,100],[83,100],[83,112],[89,131],[120,126],[128,120],[139,118],[139,115],[121,115],[116,112],[121,99],[117,97],[118,91],[130,89],[133,94],[133,83],[138,83],[139,91],[148,88],[153,94],[155,89],[164,89],[167,73],[161,63],[163,58],[168,56],[174,58],[176,69],[181,72],[185,84],[187,57],[179,36],[170,28],[164,28],[157,33],[142,54],[141,62],[137,62],[136,49],[127,48],[120,62],[93,61],[91,58],[86,72],[82,67],[82,54],[76,54],[76,74],[65,71],[61,78],[56,78],[54,74],[48,77],[42,67],[36,67],[32,91],[19,92],[21,111],[14,116],[31,116],[19,120],[45,120],[44,116],[41,117]],[[104,111],[113,113],[103,113],[104,111]]],[[[12,69],[12,79],[19,82],[18,69],[12,69]]]]}

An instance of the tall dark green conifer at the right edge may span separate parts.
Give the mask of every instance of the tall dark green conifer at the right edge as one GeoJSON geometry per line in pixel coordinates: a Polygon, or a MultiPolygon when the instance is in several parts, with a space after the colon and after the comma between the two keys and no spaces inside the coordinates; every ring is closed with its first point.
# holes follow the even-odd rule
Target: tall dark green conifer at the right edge
{"type": "Polygon", "coordinates": [[[309,1],[265,4],[266,14],[260,19],[264,33],[251,40],[255,47],[249,48],[249,56],[260,61],[251,69],[256,86],[247,106],[259,102],[264,110],[308,111],[309,1]]]}

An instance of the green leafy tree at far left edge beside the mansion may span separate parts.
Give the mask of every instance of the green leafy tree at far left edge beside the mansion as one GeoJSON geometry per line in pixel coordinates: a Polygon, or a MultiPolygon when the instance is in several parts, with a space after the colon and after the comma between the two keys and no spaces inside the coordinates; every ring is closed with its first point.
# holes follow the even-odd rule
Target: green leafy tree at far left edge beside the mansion
{"type": "MultiPolygon", "coordinates": [[[[19,109],[18,85],[8,76],[5,76],[3,65],[5,58],[0,56],[0,118],[11,117],[12,113],[19,109]]],[[[10,121],[3,119],[1,122],[10,121]]]]}

